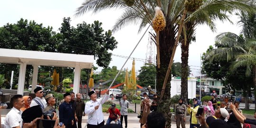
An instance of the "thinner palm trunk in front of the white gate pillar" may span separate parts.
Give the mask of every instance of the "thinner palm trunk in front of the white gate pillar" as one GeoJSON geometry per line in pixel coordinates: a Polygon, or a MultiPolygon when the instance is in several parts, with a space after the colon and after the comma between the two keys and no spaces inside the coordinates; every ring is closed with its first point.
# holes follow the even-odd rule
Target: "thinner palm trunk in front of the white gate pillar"
{"type": "Polygon", "coordinates": [[[181,97],[184,99],[184,102],[188,98],[188,76],[189,76],[189,67],[188,67],[188,57],[189,57],[189,42],[185,43],[185,40],[182,41],[182,67],[181,67],[181,97]]]}

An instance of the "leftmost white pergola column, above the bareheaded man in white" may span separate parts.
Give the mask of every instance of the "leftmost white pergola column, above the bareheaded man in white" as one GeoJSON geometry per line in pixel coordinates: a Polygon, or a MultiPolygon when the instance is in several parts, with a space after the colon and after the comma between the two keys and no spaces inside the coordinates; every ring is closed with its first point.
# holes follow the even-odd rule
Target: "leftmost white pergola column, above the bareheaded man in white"
{"type": "Polygon", "coordinates": [[[23,91],[24,91],[26,67],[27,67],[26,62],[21,62],[21,64],[19,65],[17,94],[20,94],[20,95],[23,95],[23,91]]]}

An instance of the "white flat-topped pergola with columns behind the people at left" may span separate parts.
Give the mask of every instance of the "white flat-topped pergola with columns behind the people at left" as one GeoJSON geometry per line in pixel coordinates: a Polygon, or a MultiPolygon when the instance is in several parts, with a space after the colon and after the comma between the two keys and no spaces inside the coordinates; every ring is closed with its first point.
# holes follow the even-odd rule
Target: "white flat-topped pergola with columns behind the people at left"
{"type": "Polygon", "coordinates": [[[20,64],[17,94],[23,95],[26,67],[33,65],[32,93],[37,85],[38,66],[74,67],[73,92],[79,92],[81,69],[92,67],[93,55],[76,55],[0,48],[0,63],[20,64]]]}

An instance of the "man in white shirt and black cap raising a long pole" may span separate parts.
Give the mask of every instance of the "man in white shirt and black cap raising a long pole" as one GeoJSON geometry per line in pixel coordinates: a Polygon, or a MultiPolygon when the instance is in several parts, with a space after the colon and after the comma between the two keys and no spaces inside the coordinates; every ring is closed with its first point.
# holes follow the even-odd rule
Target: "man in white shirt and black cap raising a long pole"
{"type": "Polygon", "coordinates": [[[109,91],[106,92],[105,98],[97,99],[95,91],[90,91],[88,94],[91,101],[85,104],[84,113],[88,114],[87,128],[100,128],[104,126],[104,115],[102,112],[102,104],[109,99],[109,91]]]}

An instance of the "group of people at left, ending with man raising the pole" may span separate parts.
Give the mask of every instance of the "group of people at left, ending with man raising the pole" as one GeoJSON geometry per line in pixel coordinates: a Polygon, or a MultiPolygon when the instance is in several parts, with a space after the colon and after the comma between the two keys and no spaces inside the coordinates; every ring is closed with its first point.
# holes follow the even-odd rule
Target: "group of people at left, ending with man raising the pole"
{"type": "MultiPolygon", "coordinates": [[[[53,107],[55,96],[44,97],[41,87],[34,90],[36,97],[14,95],[11,100],[12,109],[4,119],[5,128],[82,128],[82,116],[88,114],[87,128],[104,126],[102,104],[108,100],[109,91],[104,99],[97,99],[95,91],[88,94],[91,101],[84,103],[81,94],[65,93],[64,101],[59,105],[59,117],[53,107]]],[[[127,119],[126,119],[127,120],[127,119]]]]}

